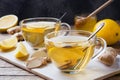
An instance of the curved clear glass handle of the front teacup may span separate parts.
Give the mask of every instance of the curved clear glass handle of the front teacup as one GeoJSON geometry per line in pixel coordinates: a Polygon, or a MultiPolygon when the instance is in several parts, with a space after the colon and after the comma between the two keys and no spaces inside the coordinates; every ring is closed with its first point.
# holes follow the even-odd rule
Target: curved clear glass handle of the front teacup
{"type": "MultiPolygon", "coordinates": [[[[103,53],[105,50],[106,50],[106,41],[102,38],[97,38],[97,43],[96,43],[98,46],[100,46],[99,50],[98,51],[95,51],[94,52],[94,55],[92,57],[92,59],[95,59],[97,58],[101,53],[103,53]]],[[[97,46],[96,46],[97,47],[97,46]]]]}

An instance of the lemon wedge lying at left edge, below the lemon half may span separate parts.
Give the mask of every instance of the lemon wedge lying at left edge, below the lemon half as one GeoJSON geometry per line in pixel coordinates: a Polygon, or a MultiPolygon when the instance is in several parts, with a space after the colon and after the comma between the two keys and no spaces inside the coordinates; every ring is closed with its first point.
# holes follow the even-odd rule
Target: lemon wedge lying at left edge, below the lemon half
{"type": "Polygon", "coordinates": [[[0,41],[0,49],[8,50],[14,48],[17,44],[18,40],[16,37],[10,37],[8,39],[0,41]]]}

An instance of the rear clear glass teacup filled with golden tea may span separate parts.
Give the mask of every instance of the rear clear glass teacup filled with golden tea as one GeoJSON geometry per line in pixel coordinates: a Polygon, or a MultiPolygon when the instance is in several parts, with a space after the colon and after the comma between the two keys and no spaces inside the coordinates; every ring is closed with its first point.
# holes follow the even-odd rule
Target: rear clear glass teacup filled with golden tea
{"type": "Polygon", "coordinates": [[[23,37],[34,49],[44,46],[44,35],[60,29],[71,29],[67,23],[61,23],[57,18],[37,17],[20,22],[23,37]]]}

